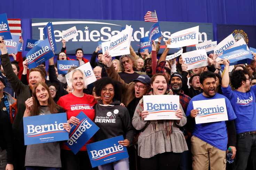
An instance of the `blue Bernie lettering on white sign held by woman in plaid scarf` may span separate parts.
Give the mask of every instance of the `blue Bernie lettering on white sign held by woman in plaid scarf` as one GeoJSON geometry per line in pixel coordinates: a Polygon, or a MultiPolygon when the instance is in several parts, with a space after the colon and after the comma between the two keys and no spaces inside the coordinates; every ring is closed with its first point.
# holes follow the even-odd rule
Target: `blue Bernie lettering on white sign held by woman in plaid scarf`
{"type": "Polygon", "coordinates": [[[167,104],[152,104],[152,103],[146,103],[147,111],[150,113],[157,113],[164,110],[172,110],[175,111],[178,109],[177,104],[173,104],[172,102],[167,104]]]}

